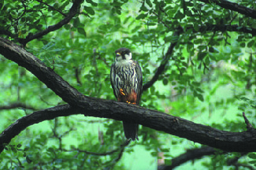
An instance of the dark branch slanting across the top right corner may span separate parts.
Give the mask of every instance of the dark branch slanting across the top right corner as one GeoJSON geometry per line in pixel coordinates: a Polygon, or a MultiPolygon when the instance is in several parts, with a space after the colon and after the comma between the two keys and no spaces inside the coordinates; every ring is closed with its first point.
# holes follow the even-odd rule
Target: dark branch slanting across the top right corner
{"type": "Polygon", "coordinates": [[[216,4],[217,6],[221,6],[224,9],[236,11],[238,13],[246,15],[247,17],[256,19],[256,10],[247,8],[246,6],[241,6],[234,2],[229,2],[226,0],[199,0],[199,1],[205,2],[205,3],[213,3],[213,4],[216,4]]]}

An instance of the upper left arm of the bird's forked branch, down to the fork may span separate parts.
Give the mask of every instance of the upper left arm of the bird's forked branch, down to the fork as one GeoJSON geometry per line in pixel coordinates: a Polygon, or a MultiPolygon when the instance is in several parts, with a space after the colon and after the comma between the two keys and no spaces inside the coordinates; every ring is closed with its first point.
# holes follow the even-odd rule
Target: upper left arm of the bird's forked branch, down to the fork
{"type": "Polygon", "coordinates": [[[0,38],[0,54],[18,65],[27,68],[40,81],[70,105],[76,105],[76,98],[85,98],[74,87],[64,81],[51,68],[46,67],[37,57],[7,39],[0,38]]]}

